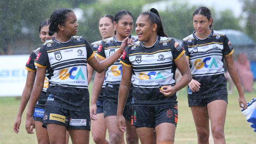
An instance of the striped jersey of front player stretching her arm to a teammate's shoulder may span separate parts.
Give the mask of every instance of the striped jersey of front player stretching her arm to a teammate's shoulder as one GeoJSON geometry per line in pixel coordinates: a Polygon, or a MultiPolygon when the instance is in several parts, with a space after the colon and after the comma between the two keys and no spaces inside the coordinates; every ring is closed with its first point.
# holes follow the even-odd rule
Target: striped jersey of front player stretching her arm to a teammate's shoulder
{"type": "Polygon", "coordinates": [[[56,39],[40,49],[35,65],[47,68],[49,87],[46,105],[71,110],[89,110],[87,61],[94,57],[89,43],[73,36],[68,42],[56,39]]]}

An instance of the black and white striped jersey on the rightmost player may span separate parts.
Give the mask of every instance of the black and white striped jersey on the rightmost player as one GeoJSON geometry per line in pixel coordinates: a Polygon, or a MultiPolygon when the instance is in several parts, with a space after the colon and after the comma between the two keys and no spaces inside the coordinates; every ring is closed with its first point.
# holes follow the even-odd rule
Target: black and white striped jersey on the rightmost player
{"type": "Polygon", "coordinates": [[[188,89],[188,96],[206,98],[227,95],[223,61],[224,56],[232,55],[234,50],[226,35],[211,30],[206,39],[198,39],[194,32],[183,39],[182,47],[189,58],[193,79],[201,83],[198,92],[188,89]]]}

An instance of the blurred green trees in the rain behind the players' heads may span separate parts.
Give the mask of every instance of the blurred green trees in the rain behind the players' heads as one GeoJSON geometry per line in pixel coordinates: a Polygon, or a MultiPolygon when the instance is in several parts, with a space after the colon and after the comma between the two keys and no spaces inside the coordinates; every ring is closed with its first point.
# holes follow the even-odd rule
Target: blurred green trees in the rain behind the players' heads
{"type": "MultiPolygon", "coordinates": [[[[3,0],[0,3],[0,54],[29,54],[41,44],[38,36],[39,23],[50,18],[50,14],[57,8],[80,8],[83,16],[78,20],[77,35],[81,35],[88,42],[102,39],[98,31],[98,21],[106,14],[115,15],[119,10],[126,9],[134,16],[134,23],[143,11],[143,5],[157,0],[3,0]]],[[[255,1],[255,0],[254,0],[255,1]]],[[[148,10],[150,7],[148,7],[148,10]]],[[[194,30],[192,13],[196,7],[185,4],[176,4],[166,11],[160,12],[165,32],[169,37],[182,39],[194,30]]],[[[211,9],[214,18],[214,10],[211,9]]],[[[254,10],[255,11],[255,10],[254,10]]],[[[220,30],[231,28],[241,29],[238,20],[231,11],[223,11],[220,18],[214,18],[213,28],[220,30]]],[[[249,26],[249,28],[251,28],[249,26]]],[[[254,27],[255,28],[255,27],[254,27]]],[[[135,35],[135,26],[133,35],[135,35]]],[[[251,30],[250,30],[251,31],[251,30]]],[[[254,29],[255,31],[255,29],[254,29]]],[[[254,32],[255,33],[255,32],[254,32]]]]}

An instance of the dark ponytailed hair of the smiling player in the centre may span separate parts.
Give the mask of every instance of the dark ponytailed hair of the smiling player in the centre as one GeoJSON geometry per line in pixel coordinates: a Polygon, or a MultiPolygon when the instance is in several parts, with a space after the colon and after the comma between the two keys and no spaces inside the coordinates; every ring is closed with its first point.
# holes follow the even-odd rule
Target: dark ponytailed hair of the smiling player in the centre
{"type": "Polygon", "coordinates": [[[141,15],[148,15],[148,21],[151,22],[151,24],[157,24],[157,35],[160,37],[167,37],[163,31],[163,24],[160,15],[156,9],[152,8],[150,11],[143,12],[141,15]]]}

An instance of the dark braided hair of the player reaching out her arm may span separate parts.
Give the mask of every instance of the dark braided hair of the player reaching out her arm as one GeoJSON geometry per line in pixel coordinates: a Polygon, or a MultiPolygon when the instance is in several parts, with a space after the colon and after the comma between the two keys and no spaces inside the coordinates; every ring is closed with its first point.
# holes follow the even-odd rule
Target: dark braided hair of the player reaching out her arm
{"type": "Polygon", "coordinates": [[[55,32],[58,31],[58,25],[63,25],[64,20],[67,18],[67,14],[73,12],[70,9],[55,9],[52,12],[50,18],[50,26],[49,26],[49,35],[54,35],[55,32]]]}

